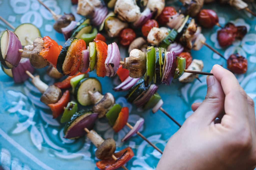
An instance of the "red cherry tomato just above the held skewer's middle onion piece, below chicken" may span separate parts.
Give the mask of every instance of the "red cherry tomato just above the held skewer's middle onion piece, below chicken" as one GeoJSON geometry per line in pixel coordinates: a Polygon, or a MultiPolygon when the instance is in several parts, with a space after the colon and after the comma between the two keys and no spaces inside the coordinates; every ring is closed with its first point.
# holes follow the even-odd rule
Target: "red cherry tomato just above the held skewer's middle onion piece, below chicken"
{"type": "Polygon", "coordinates": [[[135,32],[131,28],[125,28],[119,33],[120,44],[128,46],[136,38],[135,32]]]}

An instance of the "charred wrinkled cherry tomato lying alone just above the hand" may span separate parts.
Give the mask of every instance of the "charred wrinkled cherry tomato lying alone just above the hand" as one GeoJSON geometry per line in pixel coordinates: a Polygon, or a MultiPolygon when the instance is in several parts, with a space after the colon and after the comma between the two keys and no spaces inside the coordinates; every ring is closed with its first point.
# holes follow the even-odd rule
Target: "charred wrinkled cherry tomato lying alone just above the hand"
{"type": "Polygon", "coordinates": [[[227,60],[228,69],[236,74],[244,74],[247,71],[247,59],[239,54],[232,54],[227,60]]]}

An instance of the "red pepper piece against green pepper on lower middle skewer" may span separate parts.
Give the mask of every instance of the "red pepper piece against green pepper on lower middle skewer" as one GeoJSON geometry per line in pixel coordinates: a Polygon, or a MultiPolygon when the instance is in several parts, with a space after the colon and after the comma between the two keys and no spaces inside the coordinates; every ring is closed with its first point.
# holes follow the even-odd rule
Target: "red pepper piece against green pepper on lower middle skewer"
{"type": "Polygon", "coordinates": [[[116,133],[118,133],[126,125],[128,121],[128,117],[129,117],[129,109],[127,107],[123,107],[113,126],[113,129],[116,133]]]}

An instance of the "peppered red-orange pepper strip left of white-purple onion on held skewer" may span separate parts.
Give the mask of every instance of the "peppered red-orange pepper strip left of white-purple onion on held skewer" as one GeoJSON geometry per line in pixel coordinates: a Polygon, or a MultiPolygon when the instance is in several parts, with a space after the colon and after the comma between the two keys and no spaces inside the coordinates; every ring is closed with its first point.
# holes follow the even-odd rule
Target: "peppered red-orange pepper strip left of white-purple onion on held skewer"
{"type": "Polygon", "coordinates": [[[96,73],[98,77],[104,77],[106,75],[105,60],[108,55],[108,45],[101,40],[94,40],[97,51],[97,63],[96,73]]]}

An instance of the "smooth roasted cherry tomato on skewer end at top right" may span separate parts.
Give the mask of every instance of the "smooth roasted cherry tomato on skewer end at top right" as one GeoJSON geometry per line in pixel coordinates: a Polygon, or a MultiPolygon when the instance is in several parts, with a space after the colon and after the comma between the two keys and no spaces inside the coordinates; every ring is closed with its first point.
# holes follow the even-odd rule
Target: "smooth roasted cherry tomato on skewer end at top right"
{"type": "Polygon", "coordinates": [[[198,22],[205,28],[212,28],[218,22],[219,18],[214,10],[202,9],[197,16],[198,22]]]}

